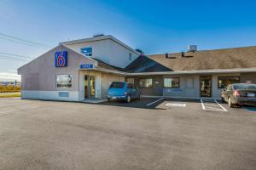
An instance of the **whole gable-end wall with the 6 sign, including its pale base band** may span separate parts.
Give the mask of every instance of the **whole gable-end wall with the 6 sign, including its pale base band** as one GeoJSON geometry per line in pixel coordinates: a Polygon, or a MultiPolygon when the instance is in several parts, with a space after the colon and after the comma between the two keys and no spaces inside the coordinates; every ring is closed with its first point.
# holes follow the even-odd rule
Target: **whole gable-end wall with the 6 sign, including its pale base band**
{"type": "Polygon", "coordinates": [[[20,67],[21,97],[25,99],[61,99],[79,100],[79,65],[93,64],[96,61],[87,59],[65,46],[58,46],[39,56],[30,63],[20,67]],[[55,52],[67,51],[67,67],[55,67],[55,52]],[[56,75],[72,75],[72,88],[56,88],[56,75]],[[68,92],[68,97],[60,97],[59,92],[68,92]]]}

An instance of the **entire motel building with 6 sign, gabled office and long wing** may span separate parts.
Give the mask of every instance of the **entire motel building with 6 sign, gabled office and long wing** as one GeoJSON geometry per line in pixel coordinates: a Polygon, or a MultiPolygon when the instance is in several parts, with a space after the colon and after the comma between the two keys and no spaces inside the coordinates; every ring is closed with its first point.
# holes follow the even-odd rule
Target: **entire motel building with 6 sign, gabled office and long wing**
{"type": "Polygon", "coordinates": [[[144,55],[112,36],[60,42],[18,69],[22,99],[105,99],[111,82],[143,96],[220,99],[230,83],[256,83],[256,47],[144,55]]]}

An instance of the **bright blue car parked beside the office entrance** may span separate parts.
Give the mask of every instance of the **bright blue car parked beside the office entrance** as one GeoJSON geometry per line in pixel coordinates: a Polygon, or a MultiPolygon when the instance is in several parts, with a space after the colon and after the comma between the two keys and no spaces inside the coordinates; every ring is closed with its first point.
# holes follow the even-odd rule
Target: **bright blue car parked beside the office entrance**
{"type": "Polygon", "coordinates": [[[141,93],[138,88],[135,88],[132,83],[128,82],[112,82],[108,88],[106,95],[109,100],[123,100],[127,103],[131,99],[140,99],[141,93]]]}

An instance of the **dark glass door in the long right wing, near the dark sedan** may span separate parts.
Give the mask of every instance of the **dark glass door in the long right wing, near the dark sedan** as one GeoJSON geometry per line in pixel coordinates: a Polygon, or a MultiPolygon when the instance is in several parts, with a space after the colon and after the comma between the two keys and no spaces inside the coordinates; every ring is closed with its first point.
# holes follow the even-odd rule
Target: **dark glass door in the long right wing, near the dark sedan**
{"type": "Polygon", "coordinates": [[[211,76],[201,76],[200,78],[201,97],[212,97],[212,77],[211,76]]]}

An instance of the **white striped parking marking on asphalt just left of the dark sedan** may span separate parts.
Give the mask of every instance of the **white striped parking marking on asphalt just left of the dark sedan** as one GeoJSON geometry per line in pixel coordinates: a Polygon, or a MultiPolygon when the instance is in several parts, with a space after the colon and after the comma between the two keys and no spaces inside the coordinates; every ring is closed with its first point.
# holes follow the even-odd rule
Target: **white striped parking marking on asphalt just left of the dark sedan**
{"type": "Polygon", "coordinates": [[[227,111],[216,99],[201,99],[201,107],[204,111],[227,111]]]}

